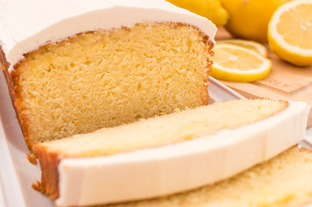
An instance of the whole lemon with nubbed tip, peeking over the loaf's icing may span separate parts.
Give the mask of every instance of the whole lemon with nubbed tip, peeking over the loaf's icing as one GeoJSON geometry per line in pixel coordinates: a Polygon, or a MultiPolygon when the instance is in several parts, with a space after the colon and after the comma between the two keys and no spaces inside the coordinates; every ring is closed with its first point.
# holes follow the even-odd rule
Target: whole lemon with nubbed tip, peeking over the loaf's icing
{"type": "Polygon", "coordinates": [[[206,17],[216,26],[224,26],[229,14],[222,8],[219,0],[167,0],[168,2],[206,17]]]}

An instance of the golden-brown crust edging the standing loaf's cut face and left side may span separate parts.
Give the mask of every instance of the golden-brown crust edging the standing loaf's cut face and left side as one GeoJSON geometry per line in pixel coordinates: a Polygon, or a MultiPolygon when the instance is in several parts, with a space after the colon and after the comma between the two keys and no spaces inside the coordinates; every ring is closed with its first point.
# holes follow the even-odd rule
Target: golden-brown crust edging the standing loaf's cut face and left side
{"type": "MultiPolygon", "coordinates": [[[[212,48],[214,47],[214,44],[209,40],[209,37],[206,34],[204,34],[201,30],[199,30],[199,28],[197,28],[193,25],[190,25],[190,24],[185,24],[185,23],[180,23],[180,22],[177,22],[177,23],[167,22],[167,23],[182,25],[182,26],[188,26],[188,27],[192,27],[192,28],[196,29],[200,33],[200,35],[203,37],[204,42],[206,43],[207,47],[209,48],[209,52],[208,52],[209,55],[210,56],[213,55],[212,48]]],[[[166,24],[166,22],[159,23],[159,24],[166,24]]],[[[94,31],[89,31],[89,32],[85,32],[85,33],[92,33],[92,32],[94,32],[94,31]]],[[[46,46],[46,45],[43,45],[41,47],[44,47],[44,46],[46,46]]],[[[5,53],[3,52],[1,46],[0,46],[0,51],[1,51],[1,61],[5,65],[4,76],[5,76],[6,81],[7,81],[8,90],[9,90],[10,98],[12,101],[12,105],[13,105],[13,108],[16,112],[17,119],[18,119],[19,125],[21,127],[22,134],[24,136],[27,148],[30,150],[30,153],[31,153],[30,155],[27,154],[27,157],[31,163],[37,164],[37,161],[36,161],[37,152],[35,149],[32,148],[32,146],[36,143],[33,143],[32,140],[30,139],[29,130],[28,130],[29,126],[27,124],[27,119],[25,117],[23,117],[23,115],[21,113],[22,103],[21,103],[21,97],[19,97],[20,91],[19,91],[19,88],[17,87],[16,83],[14,83],[14,81],[13,81],[13,78],[17,75],[17,72],[15,69],[23,61],[26,61],[26,59],[23,59],[19,63],[17,63],[16,65],[14,65],[14,70],[9,72],[8,68],[10,66],[10,63],[7,62],[6,57],[5,57],[5,53]]],[[[35,51],[31,51],[30,53],[36,52],[36,51],[39,51],[39,49],[37,49],[35,51]]],[[[210,76],[211,70],[212,70],[212,60],[207,58],[207,73],[206,73],[207,76],[204,76],[204,79],[203,79],[203,92],[201,95],[202,96],[202,105],[208,104],[209,93],[208,93],[207,86],[209,85],[209,83],[207,82],[207,80],[208,80],[208,77],[210,76]]]]}

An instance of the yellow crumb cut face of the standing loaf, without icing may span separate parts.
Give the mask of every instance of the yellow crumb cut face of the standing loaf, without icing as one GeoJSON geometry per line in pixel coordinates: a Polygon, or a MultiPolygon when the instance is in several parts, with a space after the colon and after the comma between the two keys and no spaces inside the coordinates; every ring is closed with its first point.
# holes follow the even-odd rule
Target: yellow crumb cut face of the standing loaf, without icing
{"type": "Polygon", "coordinates": [[[195,27],[142,23],[25,54],[13,80],[28,147],[206,105],[212,47],[195,27]]]}

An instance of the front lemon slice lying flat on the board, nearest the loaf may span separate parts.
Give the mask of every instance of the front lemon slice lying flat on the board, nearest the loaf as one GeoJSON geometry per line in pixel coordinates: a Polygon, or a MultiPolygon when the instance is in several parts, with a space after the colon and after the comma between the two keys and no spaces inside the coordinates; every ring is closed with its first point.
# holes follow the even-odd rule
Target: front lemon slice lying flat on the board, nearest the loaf
{"type": "Polygon", "coordinates": [[[211,76],[236,82],[251,82],[266,77],[271,61],[258,53],[232,44],[217,44],[213,51],[211,76]]]}

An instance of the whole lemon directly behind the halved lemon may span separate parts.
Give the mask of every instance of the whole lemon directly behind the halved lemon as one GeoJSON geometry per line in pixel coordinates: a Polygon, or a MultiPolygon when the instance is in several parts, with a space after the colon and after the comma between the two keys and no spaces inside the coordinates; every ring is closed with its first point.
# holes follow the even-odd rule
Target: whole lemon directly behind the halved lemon
{"type": "Polygon", "coordinates": [[[267,42],[267,27],[274,11],[289,0],[220,0],[230,18],[225,28],[236,38],[267,42]]]}

